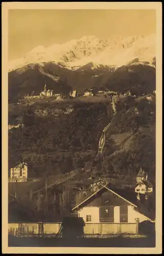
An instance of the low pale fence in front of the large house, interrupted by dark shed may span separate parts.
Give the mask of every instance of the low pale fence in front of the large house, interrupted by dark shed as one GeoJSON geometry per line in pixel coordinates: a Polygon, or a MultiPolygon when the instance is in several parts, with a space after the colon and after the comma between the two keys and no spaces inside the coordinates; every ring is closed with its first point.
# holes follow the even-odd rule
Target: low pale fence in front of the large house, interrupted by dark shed
{"type": "MultiPolygon", "coordinates": [[[[9,223],[8,232],[17,237],[55,237],[61,227],[57,223],[9,223]]],[[[135,223],[85,223],[84,235],[137,234],[135,223]]]]}

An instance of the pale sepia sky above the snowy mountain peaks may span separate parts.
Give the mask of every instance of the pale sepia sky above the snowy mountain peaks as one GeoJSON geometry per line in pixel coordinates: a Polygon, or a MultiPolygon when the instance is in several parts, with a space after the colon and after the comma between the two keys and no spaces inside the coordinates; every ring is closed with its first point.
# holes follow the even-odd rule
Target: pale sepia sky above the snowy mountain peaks
{"type": "Polygon", "coordinates": [[[48,47],[85,35],[107,39],[155,30],[155,10],[9,10],[8,58],[24,57],[38,45],[48,47]]]}

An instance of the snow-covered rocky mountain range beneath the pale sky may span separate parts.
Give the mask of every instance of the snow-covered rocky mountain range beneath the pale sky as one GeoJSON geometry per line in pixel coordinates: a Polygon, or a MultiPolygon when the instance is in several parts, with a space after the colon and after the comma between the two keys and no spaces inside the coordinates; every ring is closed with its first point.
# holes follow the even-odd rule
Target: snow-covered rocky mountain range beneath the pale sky
{"type": "Polygon", "coordinates": [[[129,63],[147,63],[153,66],[153,58],[156,56],[155,40],[154,34],[127,38],[117,36],[112,40],[84,36],[79,40],[48,48],[37,46],[26,56],[9,61],[9,71],[30,63],[45,62],[55,62],[71,70],[77,70],[90,62],[93,67],[103,65],[118,68],[129,63]]]}

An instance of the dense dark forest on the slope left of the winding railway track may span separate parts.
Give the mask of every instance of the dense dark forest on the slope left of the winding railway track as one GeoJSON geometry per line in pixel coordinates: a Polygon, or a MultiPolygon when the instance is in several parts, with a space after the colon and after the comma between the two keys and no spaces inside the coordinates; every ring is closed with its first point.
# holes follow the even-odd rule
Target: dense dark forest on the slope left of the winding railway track
{"type": "Polygon", "coordinates": [[[86,155],[91,158],[97,151],[101,131],[110,117],[103,103],[75,104],[74,109],[59,117],[38,117],[32,108],[24,111],[24,127],[9,132],[9,162],[25,157],[31,163],[32,176],[42,175],[45,163],[50,173],[83,167],[86,155]]]}

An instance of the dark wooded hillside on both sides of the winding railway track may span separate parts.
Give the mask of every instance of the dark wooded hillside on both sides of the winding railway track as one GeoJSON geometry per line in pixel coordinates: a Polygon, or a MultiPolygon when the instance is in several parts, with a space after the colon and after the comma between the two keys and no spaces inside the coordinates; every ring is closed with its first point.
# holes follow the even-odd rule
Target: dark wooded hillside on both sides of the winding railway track
{"type": "Polygon", "coordinates": [[[101,160],[103,167],[99,163],[102,172],[105,168],[107,172],[135,173],[142,164],[154,175],[155,97],[152,101],[130,96],[119,100],[116,115],[112,115],[110,100],[76,101],[73,109],[58,116],[37,116],[32,106],[21,112],[24,127],[9,130],[9,165],[25,158],[31,177],[82,168],[95,158],[102,130],[111,122],[101,160]],[[113,138],[121,134],[130,136],[119,147],[113,138]]]}

